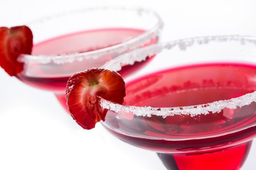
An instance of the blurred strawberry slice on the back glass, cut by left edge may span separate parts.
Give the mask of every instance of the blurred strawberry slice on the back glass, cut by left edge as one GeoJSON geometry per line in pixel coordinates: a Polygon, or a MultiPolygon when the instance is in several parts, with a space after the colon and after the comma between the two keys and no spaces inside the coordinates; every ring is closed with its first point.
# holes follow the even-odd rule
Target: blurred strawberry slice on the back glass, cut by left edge
{"type": "Polygon", "coordinates": [[[0,27],[0,66],[10,76],[16,76],[23,69],[18,56],[31,54],[32,45],[33,34],[27,26],[0,27]]]}

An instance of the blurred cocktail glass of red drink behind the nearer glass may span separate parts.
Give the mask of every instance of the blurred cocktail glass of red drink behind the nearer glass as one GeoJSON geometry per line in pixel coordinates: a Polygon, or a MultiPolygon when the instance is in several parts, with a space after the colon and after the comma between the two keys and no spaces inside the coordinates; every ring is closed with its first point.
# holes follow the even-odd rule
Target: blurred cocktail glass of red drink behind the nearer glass
{"type": "Polygon", "coordinates": [[[157,43],[163,23],[157,13],[147,9],[96,7],[26,25],[34,34],[35,44],[31,55],[20,55],[24,69],[17,78],[53,92],[66,109],[65,86],[71,75],[157,43]]]}

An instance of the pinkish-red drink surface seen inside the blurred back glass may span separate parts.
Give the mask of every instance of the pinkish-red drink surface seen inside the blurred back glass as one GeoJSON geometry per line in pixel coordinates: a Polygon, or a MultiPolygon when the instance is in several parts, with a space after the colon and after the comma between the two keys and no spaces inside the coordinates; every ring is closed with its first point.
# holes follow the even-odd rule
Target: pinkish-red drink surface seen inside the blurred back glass
{"type": "Polygon", "coordinates": [[[105,28],[67,34],[34,45],[32,54],[59,55],[94,51],[125,42],[144,32],[131,28],[105,28]]]}

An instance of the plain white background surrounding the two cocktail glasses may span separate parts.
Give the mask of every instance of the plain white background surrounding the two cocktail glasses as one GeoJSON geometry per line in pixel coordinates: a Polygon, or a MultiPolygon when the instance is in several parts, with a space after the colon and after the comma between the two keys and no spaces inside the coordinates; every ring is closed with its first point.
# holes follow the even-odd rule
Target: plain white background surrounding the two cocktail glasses
{"type": "MultiPolygon", "coordinates": [[[[0,26],[97,5],[143,6],[165,23],[162,41],[216,34],[256,35],[254,0],[0,0],[0,26]]],[[[243,170],[256,169],[256,143],[243,170]]],[[[54,95],[0,69],[0,170],[164,170],[155,153],[125,144],[98,124],[85,131],[54,95]]]]}

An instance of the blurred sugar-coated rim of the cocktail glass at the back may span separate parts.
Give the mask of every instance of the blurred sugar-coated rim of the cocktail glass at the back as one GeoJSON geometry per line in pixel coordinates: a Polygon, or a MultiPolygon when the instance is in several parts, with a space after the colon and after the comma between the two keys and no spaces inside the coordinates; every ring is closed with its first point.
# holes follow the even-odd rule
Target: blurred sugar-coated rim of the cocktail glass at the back
{"type": "MultiPolygon", "coordinates": [[[[123,53],[127,49],[134,50],[141,45],[144,45],[144,43],[156,36],[160,33],[161,29],[163,28],[163,22],[162,19],[158,16],[158,14],[149,9],[144,8],[127,8],[127,7],[109,7],[109,6],[102,6],[102,7],[93,7],[93,8],[86,8],[76,11],[70,11],[68,13],[61,13],[58,15],[55,15],[53,17],[45,17],[42,19],[39,19],[36,22],[39,22],[40,20],[47,20],[52,19],[54,17],[61,17],[72,13],[84,13],[84,12],[90,12],[92,10],[127,10],[127,11],[135,11],[138,13],[138,15],[141,15],[142,13],[145,14],[151,14],[157,18],[157,23],[153,25],[151,29],[146,31],[143,34],[140,34],[132,39],[129,39],[125,42],[106,47],[103,49],[98,49],[94,51],[88,51],[88,52],[82,52],[82,53],[71,53],[71,54],[61,54],[61,55],[28,55],[28,54],[21,54],[18,58],[18,61],[22,63],[38,63],[38,64],[63,64],[63,63],[72,63],[75,60],[83,61],[87,59],[97,59],[100,56],[104,56],[110,53],[123,53]]],[[[32,22],[35,23],[35,22],[32,22]]]]}

